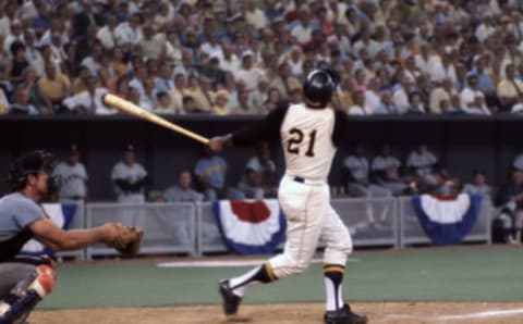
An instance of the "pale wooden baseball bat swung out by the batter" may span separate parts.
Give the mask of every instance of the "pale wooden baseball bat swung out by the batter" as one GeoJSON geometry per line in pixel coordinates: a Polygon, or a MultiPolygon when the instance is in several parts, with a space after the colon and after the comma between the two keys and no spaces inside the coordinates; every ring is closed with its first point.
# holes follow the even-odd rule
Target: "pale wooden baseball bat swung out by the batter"
{"type": "Polygon", "coordinates": [[[177,133],[180,133],[182,135],[185,135],[194,140],[197,140],[202,144],[209,144],[209,139],[202,136],[202,135],[198,135],[196,133],[193,133],[188,129],[185,129],[181,126],[178,126],[178,125],[174,125],[173,123],[151,113],[151,112],[148,112],[146,111],[145,109],[127,101],[127,100],[124,100],[118,96],[114,96],[114,95],[111,95],[111,94],[106,94],[104,95],[101,101],[108,105],[111,105],[111,107],[114,107],[115,109],[120,110],[120,111],[123,111],[123,112],[126,112],[129,114],[132,114],[132,115],[135,115],[137,116],[138,119],[143,119],[143,120],[146,120],[150,123],[155,123],[157,125],[160,125],[162,127],[166,127],[168,129],[171,129],[171,130],[174,130],[177,133]]]}

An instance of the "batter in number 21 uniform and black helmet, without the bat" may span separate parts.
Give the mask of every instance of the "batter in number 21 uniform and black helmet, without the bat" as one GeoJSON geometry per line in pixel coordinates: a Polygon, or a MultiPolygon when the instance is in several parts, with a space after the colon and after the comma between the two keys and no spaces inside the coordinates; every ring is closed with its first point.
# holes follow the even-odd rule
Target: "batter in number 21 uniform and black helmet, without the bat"
{"type": "Polygon", "coordinates": [[[220,282],[226,315],[238,312],[248,287],[302,273],[311,264],[321,238],[327,244],[325,323],[367,323],[367,317],[353,313],[342,298],[343,272],[346,256],[352,251],[352,239],[329,203],[327,176],[346,125],[346,115],[329,108],[338,82],[335,72],[315,70],[303,85],[304,103],[280,105],[262,122],[209,141],[210,149],[218,152],[228,147],[280,138],[287,164],[278,191],[288,221],[283,253],[246,274],[220,282]]]}

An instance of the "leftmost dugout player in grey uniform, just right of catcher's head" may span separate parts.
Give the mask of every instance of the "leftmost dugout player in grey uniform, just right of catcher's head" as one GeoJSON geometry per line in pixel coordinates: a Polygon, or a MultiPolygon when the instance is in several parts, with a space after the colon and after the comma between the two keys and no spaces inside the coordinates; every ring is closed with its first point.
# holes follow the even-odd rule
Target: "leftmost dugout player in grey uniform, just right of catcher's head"
{"type": "Polygon", "coordinates": [[[76,145],[69,148],[65,160],[57,165],[53,175],[60,185],[60,202],[83,203],[87,199],[88,176],[84,164],[80,162],[80,149],[76,145]]]}

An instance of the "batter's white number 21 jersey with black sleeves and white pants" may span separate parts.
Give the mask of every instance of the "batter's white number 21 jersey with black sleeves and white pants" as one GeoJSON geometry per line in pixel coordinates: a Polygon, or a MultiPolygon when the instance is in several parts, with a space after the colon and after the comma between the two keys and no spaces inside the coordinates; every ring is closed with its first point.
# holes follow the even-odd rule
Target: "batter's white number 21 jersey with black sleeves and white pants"
{"type": "Polygon", "coordinates": [[[352,251],[349,230],[329,203],[327,183],[346,121],[341,111],[291,104],[277,108],[256,126],[233,134],[234,146],[281,138],[285,175],[278,198],[287,216],[288,232],[283,253],[269,260],[278,278],[303,272],[319,238],[327,244],[326,264],[344,265],[352,251]]]}

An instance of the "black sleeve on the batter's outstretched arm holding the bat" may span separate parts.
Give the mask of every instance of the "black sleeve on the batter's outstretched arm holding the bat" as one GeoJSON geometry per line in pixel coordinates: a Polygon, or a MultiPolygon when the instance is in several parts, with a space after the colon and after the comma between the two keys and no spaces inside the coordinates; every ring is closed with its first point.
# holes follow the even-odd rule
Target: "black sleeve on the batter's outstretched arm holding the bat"
{"type": "Polygon", "coordinates": [[[288,102],[280,103],[264,120],[234,132],[232,144],[235,147],[244,147],[260,140],[278,138],[288,110],[288,102]]]}

